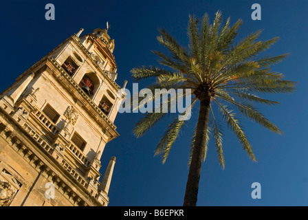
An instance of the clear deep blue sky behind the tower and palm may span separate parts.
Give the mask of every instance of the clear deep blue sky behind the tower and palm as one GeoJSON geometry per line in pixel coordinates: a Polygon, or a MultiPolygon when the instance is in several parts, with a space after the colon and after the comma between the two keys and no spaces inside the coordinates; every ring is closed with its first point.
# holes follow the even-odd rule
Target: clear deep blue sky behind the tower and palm
{"type": "MultiPolygon", "coordinates": [[[[267,54],[289,57],[272,69],[288,80],[298,82],[294,94],[270,95],[281,102],[274,107],[262,106],[265,113],[285,135],[276,135],[263,127],[242,120],[254,148],[257,163],[251,162],[236,137],[224,129],[225,170],[221,170],[214,145],[210,142],[199,184],[198,206],[307,206],[307,39],[308,1],[305,0],[198,0],[198,1],[3,1],[1,2],[1,76],[3,91],[21,73],[45,56],[70,35],[84,28],[106,28],[115,39],[117,83],[134,83],[130,70],[140,65],[156,65],[151,50],[162,51],[156,41],[157,28],[165,28],[187,45],[188,15],[201,19],[221,10],[232,23],[243,19],[239,39],[263,29],[261,39],[281,38],[267,54]],[[45,20],[45,5],[54,3],[55,20],[45,20]],[[261,21],[253,21],[253,3],[261,5],[261,21]],[[252,199],[252,183],[261,184],[261,199],[252,199]]],[[[145,87],[148,81],[140,83],[145,87]]],[[[263,96],[264,97],[264,96],[263,96]]],[[[168,120],[140,139],[133,126],[140,113],[118,114],[115,125],[120,137],[107,144],[102,154],[102,173],[111,156],[116,157],[109,190],[109,206],[181,206],[188,176],[188,151],[191,132],[197,122],[193,114],[188,126],[170,151],[166,164],[154,157],[154,149],[168,120]]]]}

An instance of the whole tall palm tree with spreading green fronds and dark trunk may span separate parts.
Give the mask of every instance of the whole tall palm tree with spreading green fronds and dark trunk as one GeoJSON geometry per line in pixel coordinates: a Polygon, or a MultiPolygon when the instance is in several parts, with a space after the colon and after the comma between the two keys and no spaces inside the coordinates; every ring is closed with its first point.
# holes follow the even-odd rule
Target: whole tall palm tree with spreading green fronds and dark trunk
{"type": "MultiPolygon", "coordinates": [[[[277,37],[267,41],[257,41],[261,30],[254,32],[241,41],[234,39],[242,24],[241,19],[230,25],[230,17],[223,23],[221,12],[215,14],[213,24],[205,14],[201,21],[195,16],[189,17],[188,22],[188,49],[179,43],[164,29],[159,30],[157,41],[164,45],[170,55],[154,51],[159,56],[159,63],[168,69],[159,67],[137,67],[131,69],[135,80],[148,77],[156,78],[155,83],[148,88],[153,91],[157,88],[191,89],[192,102],[188,109],[199,101],[199,118],[192,135],[190,146],[189,173],[184,197],[184,206],[196,206],[199,188],[199,177],[202,161],[206,159],[208,140],[214,137],[219,164],[225,166],[223,157],[223,133],[214,116],[213,106],[219,109],[219,115],[225,120],[228,127],[235,133],[250,159],[256,162],[252,146],[243,131],[236,113],[261,124],[270,131],[281,134],[281,130],[272,124],[254,107],[253,102],[261,104],[278,104],[257,94],[278,94],[294,91],[295,83],[285,80],[282,74],[271,72],[270,66],[281,62],[287,54],[279,56],[259,56],[276,43],[277,37]]],[[[186,94],[184,94],[184,98],[186,94]]],[[[172,103],[168,100],[169,105],[172,103]]],[[[174,103],[174,102],[173,102],[174,103]]],[[[140,104],[141,105],[141,104],[140,104]]],[[[149,131],[159,120],[170,113],[145,113],[133,133],[141,137],[149,131]]],[[[162,162],[166,161],[171,146],[177,139],[185,120],[173,119],[155,149],[155,155],[162,155],[162,162]]]]}

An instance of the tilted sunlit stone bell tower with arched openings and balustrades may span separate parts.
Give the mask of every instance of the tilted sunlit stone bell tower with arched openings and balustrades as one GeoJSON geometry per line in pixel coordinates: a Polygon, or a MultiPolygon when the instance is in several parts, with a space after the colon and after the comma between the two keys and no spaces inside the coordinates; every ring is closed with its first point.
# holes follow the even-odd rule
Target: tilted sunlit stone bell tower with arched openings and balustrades
{"type": "Polygon", "coordinates": [[[115,157],[101,181],[100,158],[125,94],[107,30],[82,32],[0,95],[0,206],[109,203],[115,157]]]}

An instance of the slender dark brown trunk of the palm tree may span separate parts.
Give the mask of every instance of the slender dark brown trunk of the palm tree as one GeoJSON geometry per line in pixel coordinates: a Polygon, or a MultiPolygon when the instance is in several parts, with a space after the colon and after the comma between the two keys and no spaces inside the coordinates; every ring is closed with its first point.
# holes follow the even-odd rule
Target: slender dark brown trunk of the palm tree
{"type": "Polygon", "coordinates": [[[200,109],[195,135],[195,146],[192,149],[192,159],[190,162],[183,206],[196,206],[197,204],[203,147],[206,145],[206,131],[210,112],[210,93],[206,90],[202,91],[199,100],[200,109]]]}

